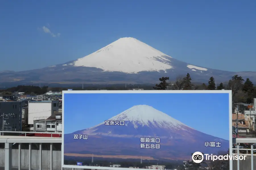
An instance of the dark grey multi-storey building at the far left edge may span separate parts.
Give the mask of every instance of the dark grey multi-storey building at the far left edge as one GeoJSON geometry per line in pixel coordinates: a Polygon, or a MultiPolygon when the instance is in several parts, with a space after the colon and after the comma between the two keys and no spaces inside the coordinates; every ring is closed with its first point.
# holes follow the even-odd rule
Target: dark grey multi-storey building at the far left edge
{"type": "Polygon", "coordinates": [[[22,105],[18,101],[0,102],[1,131],[22,130],[22,105]]]}

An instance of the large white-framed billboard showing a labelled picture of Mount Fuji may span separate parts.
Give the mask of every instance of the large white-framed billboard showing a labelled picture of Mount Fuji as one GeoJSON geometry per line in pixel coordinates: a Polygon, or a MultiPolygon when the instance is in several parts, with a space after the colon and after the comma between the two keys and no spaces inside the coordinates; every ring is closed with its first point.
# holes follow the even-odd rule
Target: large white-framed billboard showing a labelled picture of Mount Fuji
{"type": "Polygon", "coordinates": [[[231,154],[229,90],[63,91],[66,168],[171,169],[191,154],[231,154]]]}

